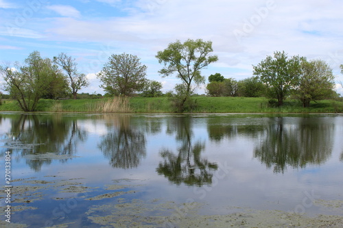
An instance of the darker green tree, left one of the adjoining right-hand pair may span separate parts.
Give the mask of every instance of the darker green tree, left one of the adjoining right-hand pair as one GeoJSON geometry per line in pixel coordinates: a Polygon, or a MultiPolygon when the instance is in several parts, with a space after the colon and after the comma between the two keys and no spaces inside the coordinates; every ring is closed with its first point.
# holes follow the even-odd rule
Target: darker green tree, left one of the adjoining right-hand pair
{"type": "Polygon", "coordinates": [[[268,97],[277,99],[279,105],[283,105],[283,100],[298,84],[301,60],[298,55],[288,58],[285,51],[275,51],[274,57],[268,55],[257,66],[253,66],[254,75],[259,76],[267,86],[268,97]]]}

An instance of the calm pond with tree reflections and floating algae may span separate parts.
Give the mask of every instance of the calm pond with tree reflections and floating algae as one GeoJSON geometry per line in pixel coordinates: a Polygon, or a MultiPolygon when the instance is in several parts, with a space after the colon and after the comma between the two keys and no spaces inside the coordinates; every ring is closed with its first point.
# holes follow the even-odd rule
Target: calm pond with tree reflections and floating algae
{"type": "Polygon", "coordinates": [[[340,227],[342,136],[342,114],[3,112],[0,225],[340,227]]]}

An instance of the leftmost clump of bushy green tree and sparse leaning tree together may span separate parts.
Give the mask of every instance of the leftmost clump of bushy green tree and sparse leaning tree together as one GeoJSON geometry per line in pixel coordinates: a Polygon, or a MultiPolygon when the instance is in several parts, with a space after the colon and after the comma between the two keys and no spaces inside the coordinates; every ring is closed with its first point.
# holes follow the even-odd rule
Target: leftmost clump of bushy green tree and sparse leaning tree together
{"type": "Polygon", "coordinates": [[[29,54],[23,64],[0,66],[5,81],[4,90],[18,101],[25,112],[36,110],[39,99],[57,99],[88,86],[86,75],[79,73],[75,60],[60,53],[53,60],[40,57],[38,51],[29,54]]]}

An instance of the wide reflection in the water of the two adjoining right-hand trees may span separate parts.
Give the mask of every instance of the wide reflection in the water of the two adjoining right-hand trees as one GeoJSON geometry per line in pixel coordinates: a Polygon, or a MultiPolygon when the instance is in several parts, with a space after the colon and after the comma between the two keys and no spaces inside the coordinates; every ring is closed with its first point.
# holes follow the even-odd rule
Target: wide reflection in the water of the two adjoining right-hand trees
{"type": "Polygon", "coordinates": [[[324,118],[299,118],[299,123],[284,123],[285,118],[270,118],[265,139],[255,148],[254,156],[274,173],[287,166],[305,168],[307,164],[323,164],[333,150],[332,123],[324,118]]]}

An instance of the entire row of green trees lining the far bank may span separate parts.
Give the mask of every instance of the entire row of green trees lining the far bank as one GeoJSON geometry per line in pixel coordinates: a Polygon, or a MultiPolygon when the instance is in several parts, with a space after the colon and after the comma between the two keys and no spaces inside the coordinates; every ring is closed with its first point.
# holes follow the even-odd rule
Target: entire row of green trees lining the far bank
{"type": "MultiPolygon", "coordinates": [[[[158,51],[156,58],[164,64],[163,77],[175,75],[180,84],[171,93],[179,112],[191,103],[194,89],[204,84],[201,74],[212,62],[218,60],[211,41],[186,40],[170,43],[163,51],[158,51]]],[[[343,65],[342,73],[343,73],[343,65]]],[[[102,81],[101,87],[115,96],[131,96],[141,92],[145,97],[157,97],[162,94],[162,84],[146,79],[147,66],[142,65],[136,55],[122,53],[110,55],[97,78],[102,81]]],[[[6,82],[5,90],[19,102],[24,111],[33,111],[40,98],[56,99],[73,94],[76,99],[78,90],[88,86],[86,76],[78,72],[75,59],[65,53],[54,57],[41,58],[34,51],[25,60],[25,64],[16,63],[1,66],[0,73],[6,82]]],[[[270,97],[282,105],[290,94],[303,102],[305,107],[310,101],[327,98],[333,94],[334,76],[329,65],[322,60],[308,61],[304,57],[293,56],[276,51],[257,66],[253,66],[254,77],[235,81],[224,79],[220,74],[211,75],[206,86],[211,96],[270,97]]]]}

